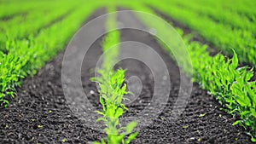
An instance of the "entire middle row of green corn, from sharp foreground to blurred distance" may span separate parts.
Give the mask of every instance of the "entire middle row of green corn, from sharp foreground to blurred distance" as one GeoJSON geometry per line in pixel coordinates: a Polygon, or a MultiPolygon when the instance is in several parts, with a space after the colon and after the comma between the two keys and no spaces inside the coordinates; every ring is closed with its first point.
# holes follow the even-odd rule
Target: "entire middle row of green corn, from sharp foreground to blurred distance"
{"type": "MultiPolygon", "coordinates": [[[[108,13],[115,11],[114,7],[108,7],[108,13]]],[[[92,81],[99,84],[99,101],[102,105],[101,111],[96,111],[102,117],[98,118],[96,122],[102,121],[106,125],[104,129],[108,135],[102,141],[95,143],[111,143],[111,144],[128,144],[134,140],[138,133],[133,132],[137,126],[137,122],[132,121],[126,126],[119,124],[119,118],[123,113],[128,111],[128,108],[122,103],[124,95],[128,94],[125,83],[125,70],[119,68],[113,70],[114,61],[118,59],[119,54],[119,35],[120,32],[114,30],[116,28],[115,22],[116,14],[109,14],[107,20],[108,34],[103,38],[102,49],[103,52],[108,51],[108,55],[104,55],[102,68],[96,70],[101,76],[91,78],[92,81]]]]}

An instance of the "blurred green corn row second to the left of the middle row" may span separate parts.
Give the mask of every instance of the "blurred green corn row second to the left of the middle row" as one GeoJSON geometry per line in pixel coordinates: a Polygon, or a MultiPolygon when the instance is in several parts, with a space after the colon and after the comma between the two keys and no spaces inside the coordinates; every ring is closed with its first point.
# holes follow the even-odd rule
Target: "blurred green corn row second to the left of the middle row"
{"type": "Polygon", "coordinates": [[[15,16],[12,20],[0,21],[0,49],[4,49],[5,43],[9,40],[19,40],[37,33],[40,29],[52,25],[57,20],[61,20],[70,14],[70,10],[78,6],[79,3],[48,3],[28,11],[26,15],[15,16]],[[38,19],[39,18],[39,19],[38,19]],[[17,25],[19,24],[19,25],[17,25]]]}

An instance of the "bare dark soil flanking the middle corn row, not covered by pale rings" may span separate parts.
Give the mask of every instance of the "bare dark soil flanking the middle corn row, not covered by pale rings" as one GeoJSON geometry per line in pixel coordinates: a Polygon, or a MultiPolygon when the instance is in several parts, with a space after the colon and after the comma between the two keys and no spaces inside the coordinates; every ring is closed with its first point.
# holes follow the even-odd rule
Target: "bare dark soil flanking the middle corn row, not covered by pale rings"
{"type": "MultiPolygon", "coordinates": [[[[100,9],[89,20],[104,13],[105,10],[100,9]]],[[[142,25],[134,15],[131,18],[133,23],[142,25]]],[[[171,110],[173,101],[177,99],[181,74],[175,61],[147,32],[121,30],[121,40],[142,42],[153,48],[166,62],[172,81],[165,109],[158,117],[153,118],[152,124],[138,126],[139,135],[132,143],[251,143],[250,137],[241,127],[231,125],[236,119],[220,111],[218,102],[196,84],[193,85],[192,94],[182,115],[173,120],[171,110]]],[[[90,93],[96,91],[96,84],[89,79],[93,76],[99,56],[102,55],[101,41],[102,37],[99,37],[91,45],[81,71],[84,93],[90,103],[98,108],[98,94],[90,93]]],[[[0,143],[88,143],[99,141],[105,136],[101,131],[84,124],[84,120],[79,119],[67,105],[61,84],[63,55],[64,52],[60,52],[36,76],[26,78],[17,89],[17,96],[10,101],[10,106],[1,109],[0,143]]],[[[124,115],[136,116],[150,104],[154,93],[154,79],[151,78],[148,66],[138,60],[121,60],[116,65],[119,66],[127,68],[127,78],[137,76],[142,80],[141,95],[127,105],[129,112],[124,115]]],[[[87,121],[90,123],[90,118],[87,121]]]]}

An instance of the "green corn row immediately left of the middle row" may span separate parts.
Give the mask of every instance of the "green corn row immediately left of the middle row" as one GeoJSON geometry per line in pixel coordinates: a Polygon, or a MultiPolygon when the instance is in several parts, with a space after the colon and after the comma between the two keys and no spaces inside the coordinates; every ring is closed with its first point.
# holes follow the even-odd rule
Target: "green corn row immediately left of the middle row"
{"type": "MultiPolygon", "coordinates": [[[[84,2],[80,1],[80,3],[84,2]]],[[[8,50],[8,54],[0,51],[0,103],[2,107],[9,106],[8,97],[15,96],[15,88],[20,86],[20,80],[34,75],[39,68],[44,66],[45,62],[63,49],[69,38],[83,24],[84,19],[100,6],[101,3],[96,2],[91,2],[90,5],[84,3],[67,18],[40,30],[36,37],[30,35],[18,40],[9,39],[6,42],[5,49],[8,50]]],[[[29,29],[29,26],[26,29],[29,29]]]]}

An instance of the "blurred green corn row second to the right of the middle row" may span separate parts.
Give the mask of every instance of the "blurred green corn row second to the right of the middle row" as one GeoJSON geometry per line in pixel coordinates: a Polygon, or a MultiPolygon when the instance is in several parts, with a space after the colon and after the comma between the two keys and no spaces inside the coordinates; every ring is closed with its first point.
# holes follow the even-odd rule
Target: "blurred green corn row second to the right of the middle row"
{"type": "MultiPolygon", "coordinates": [[[[248,30],[227,25],[224,21],[212,20],[209,16],[205,14],[198,14],[193,10],[182,9],[180,5],[177,4],[180,3],[178,1],[162,1],[162,3],[159,3],[158,1],[150,1],[150,3],[146,3],[154,9],[158,9],[161,13],[169,15],[174,20],[188,26],[218,49],[223,50],[225,55],[233,55],[232,49],[235,49],[241,62],[248,63],[251,66],[256,66],[256,39],[255,34],[253,33],[255,21],[250,20],[251,27],[250,30],[248,30]]],[[[252,14],[251,17],[253,17],[253,9],[250,10],[252,14]]],[[[223,13],[219,13],[217,10],[215,13],[227,14],[225,11],[223,11],[223,13]]],[[[238,17],[236,18],[238,20],[243,20],[238,17]]]]}

